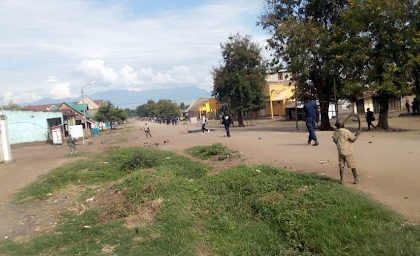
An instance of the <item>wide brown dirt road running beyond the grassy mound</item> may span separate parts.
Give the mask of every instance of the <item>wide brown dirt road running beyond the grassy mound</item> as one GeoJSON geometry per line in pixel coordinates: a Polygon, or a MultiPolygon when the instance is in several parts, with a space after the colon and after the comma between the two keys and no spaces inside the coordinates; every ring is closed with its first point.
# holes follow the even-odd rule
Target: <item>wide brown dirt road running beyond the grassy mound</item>
{"type": "MultiPolygon", "coordinates": [[[[395,118],[390,121],[394,127],[411,127],[412,130],[362,133],[355,144],[355,157],[362,182],[357,186],[351,185],[352,178],[347,171],[346,185],[370,194],[374,199],[402,213],[409,221],[420,223],[420,119],[395,118]]],[[[150,127],[153,138],[147,140],[140,130],[142,123],[136,122],[122,130],[92,138],[92,143],[79,145],[79,150],[89,154],[110,147],[158,143],[161,149],[183,153],[191,146],[220,142],[241,152],[243,162],[247,164],[271,164],[337,178],[337,152],[331,141],[332,132],[318,132],[321,144],[312,147],[306,145],[304,124],[299,125],[302,129],[296,132],[294,123],[290,122],[254,122],[246,128],[233,128],[232,137],[227,138],[218,123],[210,125],[215,130],[209,134],[187,133],[188,129],[193,128],[191,125],[174,127],[152,123],[150,127]],[[169,140],[169,143],[163,143],[164,140],[169,140]]],[[[9,221],[12,205],[8,203],[12,193],[39,175],[79,159],[70,157],[66,146],[48,144],[19,146],[13,149],[13,156],[13,163],[0,165],[0,213],[9,212],[11,215],[9,218],[2,216],[0,235],[13,226],[6,225],[13,223],[9,221]]],[[[16,218],[13,220],[19,221],[16,218]]]]}

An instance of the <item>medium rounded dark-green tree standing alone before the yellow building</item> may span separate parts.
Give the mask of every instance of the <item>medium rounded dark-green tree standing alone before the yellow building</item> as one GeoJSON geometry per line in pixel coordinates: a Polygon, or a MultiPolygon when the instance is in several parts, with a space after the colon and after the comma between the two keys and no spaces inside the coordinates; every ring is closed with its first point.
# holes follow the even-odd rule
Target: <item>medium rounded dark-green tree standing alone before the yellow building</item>
{"type": "Polygon", "coordinates": [[[228,103],[244,126],[242,113],[265,107],[266,64],[249,36],[236,34],[221,44],[223,64],[213,70],[213,95],[228,103]]]}

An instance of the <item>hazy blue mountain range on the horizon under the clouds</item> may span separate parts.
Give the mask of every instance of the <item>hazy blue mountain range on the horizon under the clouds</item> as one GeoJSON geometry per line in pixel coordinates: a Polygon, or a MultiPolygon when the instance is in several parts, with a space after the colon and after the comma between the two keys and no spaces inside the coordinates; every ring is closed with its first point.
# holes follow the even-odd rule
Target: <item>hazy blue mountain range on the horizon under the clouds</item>
{"type": "MultiPolygon", "coordinates": [[[[178,103],[184,102],[185,104],[191,104],[193,100],[197,98],[210,97],[210,92],[199,89],[197,87],[183,87],[176,89],[157,89],[149,91],[127,91],[127,90],[111,90],[96,92],[89,95],[94,100],[109,100],[115,106],[121,108],[135,108],[138,105],[146,103],[148,100],[160,100],[169,99],[178,103]]],[[[78,101],[77,98],[66,98],[66,99],[51,99],[44,98],[31,103],[25,103],[22,105],[44,105],[52,103],[60,103],[65,101],[78,101]]]]}

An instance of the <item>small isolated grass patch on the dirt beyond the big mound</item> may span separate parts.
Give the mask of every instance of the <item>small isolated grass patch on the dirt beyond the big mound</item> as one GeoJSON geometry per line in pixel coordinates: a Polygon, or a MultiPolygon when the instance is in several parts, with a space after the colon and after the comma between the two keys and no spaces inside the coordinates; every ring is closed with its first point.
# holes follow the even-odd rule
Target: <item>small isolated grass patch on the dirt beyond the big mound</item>
{"type": "Polygon", "coordinates": [[[225,160],[232,156],[233,152],[229,148],[223,146],[220,143],[208,145],[208,146],[196,146],[186,150],[186,152],[199,159],[217,159],[219,161],[225,160]]]}

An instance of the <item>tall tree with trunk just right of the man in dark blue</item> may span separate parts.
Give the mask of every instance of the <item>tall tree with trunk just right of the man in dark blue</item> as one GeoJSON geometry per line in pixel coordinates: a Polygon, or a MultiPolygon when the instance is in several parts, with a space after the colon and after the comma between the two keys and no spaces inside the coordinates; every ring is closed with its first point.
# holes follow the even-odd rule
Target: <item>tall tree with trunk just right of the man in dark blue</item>
{"type": "MultiPolygon", "coordinates": [[[[334,83],[342,86],[335,44],[342,40],[339,29],[346,0],[266,0],[259,24],[272,35],[273,67],[287,68],[297,81],[298,96],[316,96],[321,107],[321,129],[330,130],[329,102],[334,83]]],[[[305,99],[304,99],[305,100],[305,99]]]]}

